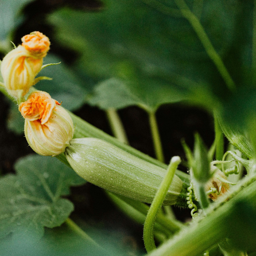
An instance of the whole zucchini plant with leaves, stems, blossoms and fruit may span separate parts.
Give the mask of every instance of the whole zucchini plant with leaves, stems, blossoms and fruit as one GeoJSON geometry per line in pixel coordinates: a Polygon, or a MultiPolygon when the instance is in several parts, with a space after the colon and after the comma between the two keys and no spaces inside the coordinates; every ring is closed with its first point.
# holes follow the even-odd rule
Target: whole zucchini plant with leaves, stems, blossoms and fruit
{"type": "Polygon", "coordinates": [[[145,250],[130,255],[256,255],[255,8],[236,0],[104,0],[95,13],[59,8],[45,22],[55,28],[53,42],[80,54],[66,67],[48,54],[52,39],[39,31],[13,50],[3,44],[0,90],[41,156],[19,160],[16,174],[0,178],[1,253],[121,255],[69,217],[74,205],[63,196],[89,182],[143,225],[145,250]],[[106,111],[114,137],[70,111],[84,102],[106,111]],[[185,160],[165,160],[156,111],[167,103],[208,111],[212,146],[195,133],[193,149],[181,141],[185,160]],[[156,158],[129,146],[117,110],[132,105],[148,115],[156,158]],[[172,206],[189,211],[188,222],[172,206]],[[62,243],[49,251],[45,241],[58,226],[62,243]]]}

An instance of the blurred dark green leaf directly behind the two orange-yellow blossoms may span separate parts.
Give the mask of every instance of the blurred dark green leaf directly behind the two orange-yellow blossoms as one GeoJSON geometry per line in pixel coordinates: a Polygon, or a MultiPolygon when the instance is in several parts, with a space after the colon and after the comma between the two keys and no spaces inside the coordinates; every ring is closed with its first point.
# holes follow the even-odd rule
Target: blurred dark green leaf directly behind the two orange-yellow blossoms
{"type": "MultiPolygon", "coordinates": [[[[53,54],[48,54],[43,61],[44,64],[59,63],[61,59],[53,54]]],[[[82,81],[63,62],[45,67],[38,76],[53,78],[52,80],[41,80],[35,87],[38,90],[47,91],[53,99],[59,102],[63,101],[64,108],[76,110],[84,103],[86,91],[80,85],[82,81]]]]}

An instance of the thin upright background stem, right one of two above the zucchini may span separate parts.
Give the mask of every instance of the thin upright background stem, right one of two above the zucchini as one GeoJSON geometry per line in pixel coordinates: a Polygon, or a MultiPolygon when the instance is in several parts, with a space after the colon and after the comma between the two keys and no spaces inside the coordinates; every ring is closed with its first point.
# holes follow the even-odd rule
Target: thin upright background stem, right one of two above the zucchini
{"type": "Polygon", "coordinates": [[[164,153],[162,152],[161,139],[159,135],[155,111],[148,111],[148,115],[149,115],[149,123],[150,123],[156,158],[159,161],[164,162],[165,158],[164,158],[164,153]]]}

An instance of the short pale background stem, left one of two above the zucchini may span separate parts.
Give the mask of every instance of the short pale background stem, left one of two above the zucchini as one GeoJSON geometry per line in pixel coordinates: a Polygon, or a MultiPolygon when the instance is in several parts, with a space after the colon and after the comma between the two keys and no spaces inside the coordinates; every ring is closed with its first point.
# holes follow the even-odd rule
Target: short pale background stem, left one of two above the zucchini
{"type": "Polygon", "coordinates": [[[109,108],[106,110],[106,113],[114,136],[120,142],[129,144],[122,121],[118,115],[117,110],[114,108],[109,108]]]}

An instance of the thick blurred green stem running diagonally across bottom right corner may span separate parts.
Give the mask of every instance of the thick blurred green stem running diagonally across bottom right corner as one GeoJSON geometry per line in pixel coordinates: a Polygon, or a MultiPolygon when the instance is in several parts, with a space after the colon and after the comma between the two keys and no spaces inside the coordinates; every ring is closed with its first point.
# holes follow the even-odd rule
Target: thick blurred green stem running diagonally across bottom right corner
{"type": "MultiPolygon", "coordinates": [[[[253,220],[242,216],[240,203],[250,202],[250,206],[256,211],[256,187],[254,183],[241,190],[235,197],[229,199],[215,211],[211,209],[211,213],[203,218],[200,223],[183,228],[176,237],[169,239],[148,256],[197,256],[202,255],[206,250],[228,236],[239,235],[239,238],[243,239],[245,236],[242,232],[239,234],[241,231],[239,229],[242,228],[242,225],[250,228],[251,223],[255,222],[255,216],[251,216],[251,218],[254,218],[253,220]]],[[[227,200],[226,197],[224,199],[227,200]]]]}

